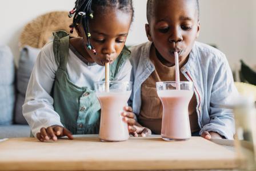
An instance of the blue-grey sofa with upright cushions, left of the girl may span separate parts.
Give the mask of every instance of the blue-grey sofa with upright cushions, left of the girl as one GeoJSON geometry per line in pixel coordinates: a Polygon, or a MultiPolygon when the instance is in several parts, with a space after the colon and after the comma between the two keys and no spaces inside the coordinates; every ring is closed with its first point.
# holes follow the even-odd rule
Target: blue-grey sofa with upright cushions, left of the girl
{"type": "Polygon", "coordinates": [[[30,136],[22,105],[39,51],[30,46],[23,47],[17,68],[10,48],[0,46],[0,139],[30,136]]]}

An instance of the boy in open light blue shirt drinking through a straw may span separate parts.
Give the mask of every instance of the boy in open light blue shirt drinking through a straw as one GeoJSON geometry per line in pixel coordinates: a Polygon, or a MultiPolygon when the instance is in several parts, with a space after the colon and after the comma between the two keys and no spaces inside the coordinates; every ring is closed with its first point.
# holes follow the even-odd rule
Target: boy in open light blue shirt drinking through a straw
{"type": "Polygon", "coordinates": [[[225,55],[195,42],[200,30],[198,0],[148,0],[147,21],[150,42],[131,48],[134,87],[130,105],[142,125],[137,133],[161,133],[163,109],[155,83],[175,80],[177,51],[181,81],[195,86],[189,104],[192,135],[233,139],[233,114],[219,104],[227,103],[237,90],[225,55]]]}

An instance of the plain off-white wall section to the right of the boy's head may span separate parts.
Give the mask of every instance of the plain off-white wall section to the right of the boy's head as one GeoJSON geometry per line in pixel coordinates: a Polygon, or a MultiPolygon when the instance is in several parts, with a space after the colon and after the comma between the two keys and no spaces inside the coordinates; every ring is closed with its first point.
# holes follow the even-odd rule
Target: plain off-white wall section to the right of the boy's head
{"type": "Polygon", "coordinates": [[[201,0],[201,42],[216,44],[231,67],[256,65],[256,1],[201,0]]]}

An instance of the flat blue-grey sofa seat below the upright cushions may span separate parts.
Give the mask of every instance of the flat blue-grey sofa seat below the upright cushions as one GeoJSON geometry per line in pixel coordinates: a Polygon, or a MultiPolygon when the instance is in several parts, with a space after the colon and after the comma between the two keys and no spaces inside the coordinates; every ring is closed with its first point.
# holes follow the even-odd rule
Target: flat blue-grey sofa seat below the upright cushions
{"type": "Polygon", "coordinates": [[[29,125],[1,125],[0,139],[30,137],[29,125]]]}

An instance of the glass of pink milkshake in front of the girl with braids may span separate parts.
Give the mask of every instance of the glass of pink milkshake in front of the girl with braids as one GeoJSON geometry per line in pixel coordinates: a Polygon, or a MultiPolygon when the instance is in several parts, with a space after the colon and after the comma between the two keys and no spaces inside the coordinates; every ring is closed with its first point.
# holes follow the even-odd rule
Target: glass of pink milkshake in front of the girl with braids
{"type": "Polygon", "coordinates": [[[121,112],[131,95],[131,82],[95,82],[94,88],[101,104],[99,139],[101,141],[125,141],[129,139],[128,125],[121,112]]]}

